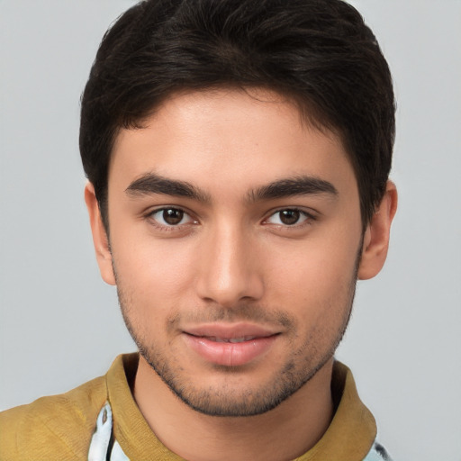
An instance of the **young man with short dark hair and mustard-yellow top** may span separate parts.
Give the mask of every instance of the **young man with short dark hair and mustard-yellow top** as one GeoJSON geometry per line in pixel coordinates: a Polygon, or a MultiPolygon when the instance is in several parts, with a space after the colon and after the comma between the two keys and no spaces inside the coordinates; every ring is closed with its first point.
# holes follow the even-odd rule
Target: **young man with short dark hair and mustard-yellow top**
{"type": "Polygon", "coordinates": [[[82,99],[104,281],[140,354],[0,416],[1,459],[388,459],[334,360],[386,258],[392,79],[340,0],[149,0],[82,99]]]}

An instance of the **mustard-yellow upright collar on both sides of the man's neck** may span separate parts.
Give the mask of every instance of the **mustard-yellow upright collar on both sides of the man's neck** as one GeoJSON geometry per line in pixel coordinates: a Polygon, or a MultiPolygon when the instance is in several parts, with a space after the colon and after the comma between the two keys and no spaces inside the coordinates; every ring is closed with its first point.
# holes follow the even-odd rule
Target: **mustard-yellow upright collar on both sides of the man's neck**
{"type": "MultiPolygon", "coordinates": [[[[138,354],[119,356],[105,377],[113,410],[113,435],[130,459],[181,460],[158,440],[132,397],[129,383],[133,382],[138,361],[138,354]]],[[[296,461],[359,461],[372,447],[375,419],[358,397],[352,373],[339,361],[333,366],[331,393],[336,411],[329,428],[317,444],[296,461]]]]}

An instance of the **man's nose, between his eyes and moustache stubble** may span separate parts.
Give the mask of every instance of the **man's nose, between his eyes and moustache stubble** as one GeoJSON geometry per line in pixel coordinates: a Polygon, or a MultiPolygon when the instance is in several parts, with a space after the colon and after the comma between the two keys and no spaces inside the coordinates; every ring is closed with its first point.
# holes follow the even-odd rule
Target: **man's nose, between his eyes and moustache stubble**
{"type": "Polygon", "coordinates": [[[210,232],[203,239],[197,294],[204,301],[231,308],[259,300],[264,293],[258,249],[243,230],[210,232]]]}

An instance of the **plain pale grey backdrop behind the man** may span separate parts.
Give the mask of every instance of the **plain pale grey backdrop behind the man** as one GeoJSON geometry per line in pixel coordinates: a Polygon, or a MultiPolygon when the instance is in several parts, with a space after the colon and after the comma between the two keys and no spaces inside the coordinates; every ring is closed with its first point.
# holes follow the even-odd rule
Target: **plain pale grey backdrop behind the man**
{"type": "MultiPolygon", "coordinates": [[[[79,97],[130,0],[0,0],[0,409],[134,350],[83,201],[79,97]]],[[[357,0],[398,100],[400,207],[338,357],[396,461],[461,459],[461,1],[357,0]]]]}

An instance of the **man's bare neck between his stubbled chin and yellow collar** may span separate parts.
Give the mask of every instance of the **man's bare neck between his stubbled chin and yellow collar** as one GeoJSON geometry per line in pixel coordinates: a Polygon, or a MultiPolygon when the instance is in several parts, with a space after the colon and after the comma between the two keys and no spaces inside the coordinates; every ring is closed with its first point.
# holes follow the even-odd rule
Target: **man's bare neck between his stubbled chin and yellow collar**
{"type": "Polygon", "coordinates": [[[158,439],[185,459],[288,460],[313,447],[330,425],[332,365],[331,358],[274,410],[258,416],[227,418],[207,416],[189,408],[140,357],[134,398],[158,439]]]}

